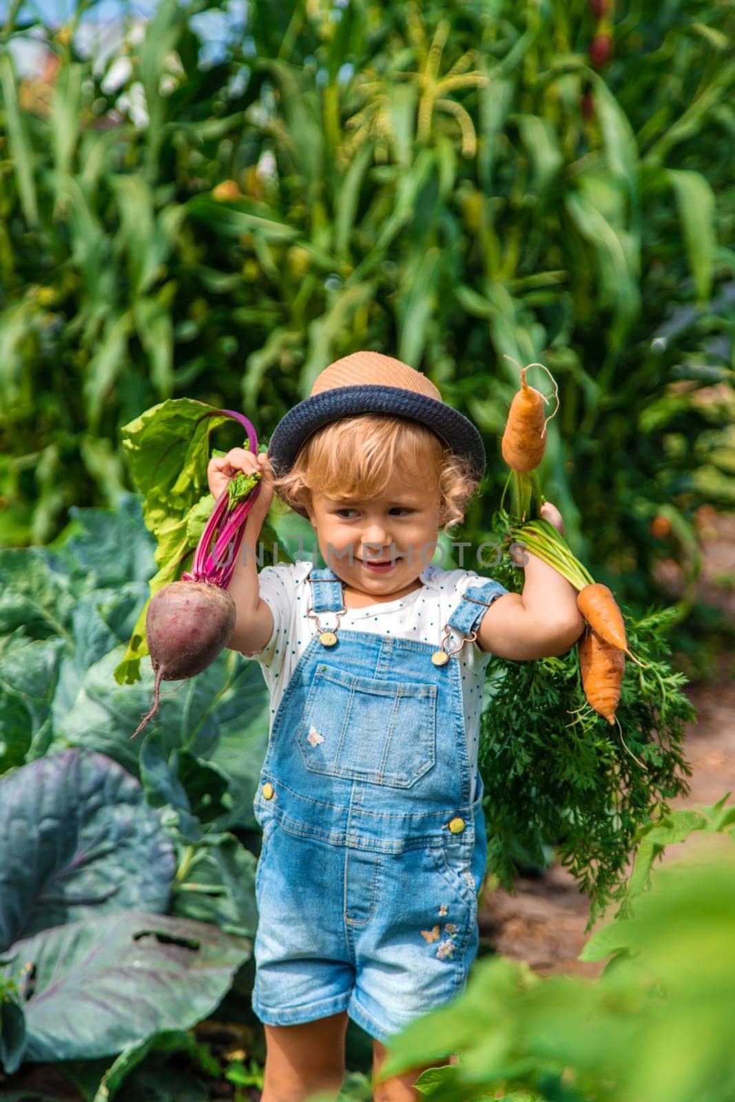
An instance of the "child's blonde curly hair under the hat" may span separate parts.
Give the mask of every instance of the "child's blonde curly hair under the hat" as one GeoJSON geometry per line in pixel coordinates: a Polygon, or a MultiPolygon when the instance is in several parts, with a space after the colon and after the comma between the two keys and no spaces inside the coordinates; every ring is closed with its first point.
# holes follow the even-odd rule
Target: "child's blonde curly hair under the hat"
{"type": "Polygon", "coordinates": [[[334,498],[369,500],[385,493],[396,471],[436,487],[442,530],[464,520],[479,485],[469,463],[454,455],[431,429],[408,418],[365,413],[313,433],[273,488],[287,506],[309,518],[313,489],[334,498]]]}

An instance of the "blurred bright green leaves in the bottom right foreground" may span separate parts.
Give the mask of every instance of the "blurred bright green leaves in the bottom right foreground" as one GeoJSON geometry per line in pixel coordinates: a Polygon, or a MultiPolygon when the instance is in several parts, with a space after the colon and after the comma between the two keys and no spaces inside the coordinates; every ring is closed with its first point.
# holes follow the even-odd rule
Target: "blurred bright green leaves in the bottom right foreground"
{"type": "MultiPolygon", "coordinates": [[[[692,818],[698,831],[732,835],[735,806],[677,812],[670,836],[687,835],[692,818]]],[[[397,1039],[385,1072],[457,1054],[456,1066],[421,1077],[426,1102],[729,1102],[732,838],[721,835],[714,854],[687,853],[657,869],[649,890],[641,886],[627,917],[582,954],[615,953],[596,982],[541,980],[519,962],[484,960],[463,997],[397,1039]]]]}

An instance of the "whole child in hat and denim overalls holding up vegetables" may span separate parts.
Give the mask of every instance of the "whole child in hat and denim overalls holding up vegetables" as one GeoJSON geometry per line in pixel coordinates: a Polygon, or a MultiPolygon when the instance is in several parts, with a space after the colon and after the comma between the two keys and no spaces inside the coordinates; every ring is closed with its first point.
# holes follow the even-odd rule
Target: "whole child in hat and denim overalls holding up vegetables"
{"type": "MultiPolygon", "coordinates": [[[[336,1094],[347,1015],[372,1036],[377,1072],[390,1037],[457,995],[475,957],[485,669],[494,653],[564,653],[583,627],[573,587],[533,555],[522,595],[432,564],[484,469],[477,430],[433,383],[366,352],[322,371],[268,456],[209,464],[215,497],[239,471],[262,474],[229,646],[260,662],[272,704],[255,801],[263,1102],[336,1094]],[[274,489],[309,517],[326,568],[258,574],[274,489]]],[[[562,530],[553,506],[543,516],[562,530]]],[[[418,1099],[421,1070],[375,1099],[418,1099]]]]}

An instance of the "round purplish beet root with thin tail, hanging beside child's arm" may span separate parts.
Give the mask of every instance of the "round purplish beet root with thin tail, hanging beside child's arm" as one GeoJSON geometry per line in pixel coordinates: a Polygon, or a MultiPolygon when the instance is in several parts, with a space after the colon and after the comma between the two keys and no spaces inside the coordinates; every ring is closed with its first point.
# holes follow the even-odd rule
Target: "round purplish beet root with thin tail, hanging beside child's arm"
{"type": "Polygon", "coordinates": [[[134,738],[159,710],[161,681],[193,678],[214,662],[235,630],[235,602],[209,582],[172,582],[151,598],[145,636],[155,673],[153,706],[134,738]]]}

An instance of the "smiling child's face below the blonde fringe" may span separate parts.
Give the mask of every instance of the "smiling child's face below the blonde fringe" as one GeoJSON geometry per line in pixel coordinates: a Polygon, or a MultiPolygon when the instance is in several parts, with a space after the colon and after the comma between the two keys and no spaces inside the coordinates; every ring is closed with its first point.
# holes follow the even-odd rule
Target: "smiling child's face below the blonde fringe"
{"type": "Polygon", "coordinates": [[[370,500],[313,491],[310,519],[322,558],[341,581],[376,597],[399,596],[417,587],[434,557],[439,506],[435,482],[422,485],[421,476],[397,472],[386,491],[370,500]]]}

